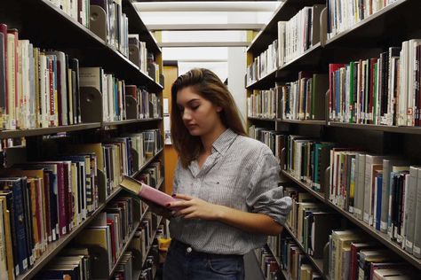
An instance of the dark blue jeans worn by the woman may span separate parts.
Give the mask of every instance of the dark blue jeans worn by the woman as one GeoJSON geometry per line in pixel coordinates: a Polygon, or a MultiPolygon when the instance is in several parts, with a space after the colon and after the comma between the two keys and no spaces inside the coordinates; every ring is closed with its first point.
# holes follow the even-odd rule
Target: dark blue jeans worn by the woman
{"type": "Polygon", "coordinates": [[[163,280],[243,280],[242,255],[201,253],[189,245],[171,240],[163,280]]]}

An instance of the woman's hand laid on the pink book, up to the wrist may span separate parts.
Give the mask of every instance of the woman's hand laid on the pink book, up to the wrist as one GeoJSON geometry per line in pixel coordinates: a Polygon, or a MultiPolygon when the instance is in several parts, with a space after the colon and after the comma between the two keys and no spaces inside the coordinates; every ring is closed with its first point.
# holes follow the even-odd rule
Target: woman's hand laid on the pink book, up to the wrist
{"type": "Polygon", "coordinates": [[[217,220],[221,211],[221,206],[211,204],[200,198],[192,198],[184,194],[177,194],[174,198],[183,199],[171,202],[170,208],[179,208],[174,217],[183,217],[184,219],[203,219],[217,220]]]}

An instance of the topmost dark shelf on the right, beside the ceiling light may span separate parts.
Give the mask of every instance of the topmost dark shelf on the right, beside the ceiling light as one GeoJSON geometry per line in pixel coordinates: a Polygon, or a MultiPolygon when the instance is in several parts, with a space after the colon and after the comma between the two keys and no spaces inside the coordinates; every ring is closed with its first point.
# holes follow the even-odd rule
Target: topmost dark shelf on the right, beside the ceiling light
{"type": "Polygon", "coordinates": [[[314,4],[326,4],[326,0],[285,0],[282,2],[266,24],[266,27],[260,30],[250,43],[247,52],[258,55],[265,51],[269,44],[274,42],[274,38],[278,37],[278,21],[289,20],[305,6],[314,4]]]}

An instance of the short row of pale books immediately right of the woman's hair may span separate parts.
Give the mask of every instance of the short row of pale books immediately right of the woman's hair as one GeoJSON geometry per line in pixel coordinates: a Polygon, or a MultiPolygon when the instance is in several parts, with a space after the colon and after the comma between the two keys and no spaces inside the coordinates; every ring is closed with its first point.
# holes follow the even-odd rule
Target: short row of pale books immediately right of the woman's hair
{"type": "Polygon", "coordinates": [[[267,90],[254,89],[247,97],[247,116],[255,118],[274,119],[277,108],[276,88],[267,90]]]}

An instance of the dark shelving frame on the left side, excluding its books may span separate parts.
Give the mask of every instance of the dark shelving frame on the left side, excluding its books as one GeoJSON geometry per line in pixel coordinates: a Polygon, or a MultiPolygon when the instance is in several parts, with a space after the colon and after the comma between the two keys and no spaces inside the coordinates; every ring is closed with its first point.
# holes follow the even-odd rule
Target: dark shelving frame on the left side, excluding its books
{"type": "MultiPolygon", "coordinates": [[[[159,73],[163,73],[162,52],[155,38],[147,30],[147,27],[139,18],[139,14],[131,3],[131,0],[122,0],[122,12],[126,14],[129,21],[129,34],[139,35],[139,41],[146,42],[147,50],[154,54],[155,63],[159,67],[159,73]]],[[[63,12],[50,0],[14,0],[0,1],[2,9],[0,10],[0,23],[7,24],[8,27],[19,30],[19,39],[28,39],[34,46],[44,50],[64,51],[72,58],[79,60],[80,66],[101,66],[107,73],[115,74],[115,77],[124,80],[126,85],[137,85],[144,87],[148,92],[155,93],[163,105],[163,85],[162,81],[151,78],[144,71],[139,70],[131,60],[120,51],[117,51],[111,44],[95,35],[90,29],[84,27],[77,20],[63,12]]],[[[162,108],[160,110],[163,112],[162,108]]],[[[98,111],[93,110],[92,113],[98,111]]],[[[100,119],[101,116],[98,116],[100,119]]],[[[38,150],[45,138],[54,138],[54,136],[76,136],[98,137],[105,136],[108,133],[118,136],[120,132],[136,133],[146,129],[158,128],[163,136],[163,116],[154,119],[133,119],[123,121],[94,121],[83,122],[75,125],[50,127],[50,128],[31,128],[31,129],[13,129],[0,131],[0,139],[22,139],[25,138],[28,159],[34,154],[29,150],[38,150]],[[115,134],[116,133],[116,134],[115,134]]],[[[106,137],[106,140],[109,137],[106,137]]],[[[96,138],[98,139],[98,138],[96,138]]],[[[5,148],[7,149],[7,148],[5,148]]],[[[41,149],[42,150],[42,149],[41,149]]],[[[155,159],[160,159],[163,164],[163,149],[155,152],[152,158],[139,167],[133,175],[141,173],[155,159]]],[[[163,166],[163,165],[162,165],[163,166]]],[[[160,179],[157,188],[163,190],[164,178],[160,179]]],[[[78,226],[68,232],[67,235],[58,238],[58,240],[47,245],[46,251],[28,268],[23,274],[16,276],[16,279],[31,279],[42,270],[49,261],[60,253],[72,240],[107,207],[117,195],[123,193],[121,187],[116,187],[103,201],[99,201],[99,207],[93,211],[78,226]]],[[[131,243],[137,225],[141,222],[134,222],[135,227],[123,246],[122,254],[131,243]]],[[[160,220],[161,221],[161,220],[160,220]]],[[[158,223],[159,225],[159,223],[158,223]]],[[[153,229],[156,232],[156,229],[153,229]]],[[[120,260],[121,256],[118,258],[120,260]]],[[[118,261],[115,262],[113,271],[118,261]]],[[[140,269],[140,268],[139,268],[140,269]]],[[[110,278],[112,273],[108,276],[110,278]]]]}

